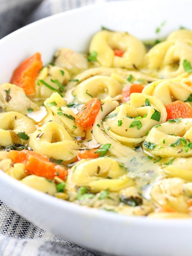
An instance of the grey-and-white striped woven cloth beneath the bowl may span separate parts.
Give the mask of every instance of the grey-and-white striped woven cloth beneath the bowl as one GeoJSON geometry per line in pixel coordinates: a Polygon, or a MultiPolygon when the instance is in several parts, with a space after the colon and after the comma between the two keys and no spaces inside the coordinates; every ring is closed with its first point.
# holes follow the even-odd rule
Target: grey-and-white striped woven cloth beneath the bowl
{"type": "MultiPolygon", "coordinates": [[[[0,0],[0,38],[35,20],[109,0],[0,0]]],[[[0,201],[1,256],[106,255],[61,239],[26,221],[0,201]]]]}

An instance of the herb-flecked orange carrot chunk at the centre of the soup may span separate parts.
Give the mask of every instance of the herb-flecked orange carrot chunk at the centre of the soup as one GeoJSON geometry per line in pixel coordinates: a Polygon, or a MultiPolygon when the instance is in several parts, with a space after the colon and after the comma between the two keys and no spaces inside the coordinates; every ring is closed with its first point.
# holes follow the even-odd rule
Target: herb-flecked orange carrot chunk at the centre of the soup
{"type": "Polygon", "coordinates": [[[84,129],[92,126],[99,110],[101,109],[101,105],[101,101],[97,98],[93,98],[91,101],[88,101],[80,112],[77,113],[78,119],[76,122],[84,129]]]}

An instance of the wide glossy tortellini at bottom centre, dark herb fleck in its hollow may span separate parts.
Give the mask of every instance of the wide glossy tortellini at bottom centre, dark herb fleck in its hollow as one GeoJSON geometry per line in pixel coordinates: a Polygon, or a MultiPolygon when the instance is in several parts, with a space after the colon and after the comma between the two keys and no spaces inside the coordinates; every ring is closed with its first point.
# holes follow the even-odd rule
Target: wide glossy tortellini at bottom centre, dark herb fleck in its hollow
{"type": "Polygon", "coordinates": [[[115,192],[134,185],[134,181],[126,176],[126,170],[110,157],[81,160],[69,172],[69,189],[73,183],[79,187],[87,186],[91,192],[107,188],[115,192]]]}

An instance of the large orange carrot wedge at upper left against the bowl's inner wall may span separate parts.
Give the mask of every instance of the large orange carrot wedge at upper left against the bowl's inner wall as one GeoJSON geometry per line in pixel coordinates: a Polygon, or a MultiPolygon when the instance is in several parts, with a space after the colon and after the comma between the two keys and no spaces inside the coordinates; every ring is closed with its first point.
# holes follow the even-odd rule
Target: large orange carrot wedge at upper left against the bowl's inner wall
{"type": "Polygon", "coordinates": [[[23,88],[27,95],[34,95],[35,79],[42,67],[41,54],[37,52],[15,69],[10,83],[23,88]]]}

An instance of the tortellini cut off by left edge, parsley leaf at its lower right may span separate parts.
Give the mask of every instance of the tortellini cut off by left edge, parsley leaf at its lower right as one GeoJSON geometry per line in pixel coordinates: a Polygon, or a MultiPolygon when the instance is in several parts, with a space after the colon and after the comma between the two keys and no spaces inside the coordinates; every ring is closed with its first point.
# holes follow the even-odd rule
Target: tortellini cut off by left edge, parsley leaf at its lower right
{"type": "Polygon", "coordinates": [[[36,130],[34,122],[18,112],[0,113],[0,145],[7,147],[12,143],[27,143],[30,133],[36,130]]]}

